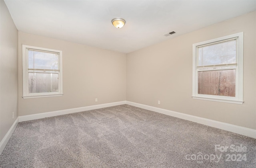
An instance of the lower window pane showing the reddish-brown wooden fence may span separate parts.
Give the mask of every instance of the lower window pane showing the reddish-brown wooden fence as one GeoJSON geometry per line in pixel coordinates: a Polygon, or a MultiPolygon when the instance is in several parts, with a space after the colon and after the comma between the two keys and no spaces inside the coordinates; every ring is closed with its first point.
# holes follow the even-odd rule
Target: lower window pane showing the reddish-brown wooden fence
{"type": "Polygon", "coordinates": [[[235,97],[236,70],[198,72],[198,94],[235,97]]]}

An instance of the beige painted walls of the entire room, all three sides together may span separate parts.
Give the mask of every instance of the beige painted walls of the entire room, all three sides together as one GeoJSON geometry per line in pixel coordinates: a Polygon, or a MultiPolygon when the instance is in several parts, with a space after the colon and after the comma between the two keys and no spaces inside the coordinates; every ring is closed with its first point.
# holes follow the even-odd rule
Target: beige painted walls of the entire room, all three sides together
{"type": "Polygon", "coordinates": [[[18,115],[124,100],[256,129],[256,12],[125,55],[17,32],[0,2],[0,141],[18,115]],[[244,104],[192,99],[192,44],[241,31],[244,104]],[[22,44],[63,51],[63,96],[22,98],[22,44]]]}

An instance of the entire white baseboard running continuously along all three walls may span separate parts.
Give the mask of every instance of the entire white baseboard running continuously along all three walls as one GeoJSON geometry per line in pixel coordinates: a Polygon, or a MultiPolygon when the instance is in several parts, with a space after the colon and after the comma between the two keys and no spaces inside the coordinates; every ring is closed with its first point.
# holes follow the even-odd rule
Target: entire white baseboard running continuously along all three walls
{"type": "Polygon", "coordinates": [[[196,123],[208,125],[210,127],[223,129],[223,130],[226,130],[226,131],[230,131],[230,132],[233,132],[233,133],[238,133],[240,135],[245,135],[245,136],[252,137],[252,138],[256,139],[256,130],[255,129],[240,127],[240,126],[237,126],[237,125],[223,123],[223,122],[220,122],[220,121],[214,121],[214,120],[206,119],[206,118],[202,118],[202,117],[196,117],[194,115],[188,115],[188,114],[179,113],[179,112],[176,112],[176,111],[170,111],[170,110],[167,110],[167,109],[152,107],[152,106],[149,106],[149,105],[138,104],[138,103],[129,102],[129,101],[122,101],[122,102],[91,105],[91,106],[78,107],[78,108],[73,108],[73,109],[64,109],[64,110],[59,110],[59,111],[51,111],[51,112],[46,112],[46,113],[38,113],[38,114],[32,114],[32,115],[19,116],[14,121],[14,123],[12,124],[12,127],[9,129],[9,131],[6,133],[6,135],[4,136],[2,141],[0,142],[0,154],[4,150],[4,147],[8,143],[10,137],[12,136],[13,131],[15,130],[15,128],[17,127],[19,122],[30,121],[30,120],[34,120],[34,119],[41,119],[41,118],[46,118],[46,117],[53,117],[53,116],[57,116],[57,115],[77,113],[77,112],[88,111],[88,110],[92,110],[92,109],[100,109],[100,108],[104,108],[104,107],[111,107],[111,106],[122,105],[122,104],[133,105],[135,107],[140,107],[140,108],[143,108],[143,109],[147,109],[147,110],[150,110],[150,111],[155,111],[155,112],[158,112],[158,113],[170,115],[170,116],[181,118],[181,119],[186,119],[188,121],[193,121],[193,122],[196,122],[196,123]]]}

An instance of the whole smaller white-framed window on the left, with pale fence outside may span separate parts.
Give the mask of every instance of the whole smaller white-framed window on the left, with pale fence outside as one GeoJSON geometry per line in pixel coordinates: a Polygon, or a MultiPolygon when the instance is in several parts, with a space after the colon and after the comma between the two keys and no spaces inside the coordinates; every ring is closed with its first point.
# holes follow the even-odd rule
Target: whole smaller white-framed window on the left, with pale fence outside
{"type": "Polygon", "coordinates": [[[62,51],[22,45],[23,98],[62,96],[62,51]]]}

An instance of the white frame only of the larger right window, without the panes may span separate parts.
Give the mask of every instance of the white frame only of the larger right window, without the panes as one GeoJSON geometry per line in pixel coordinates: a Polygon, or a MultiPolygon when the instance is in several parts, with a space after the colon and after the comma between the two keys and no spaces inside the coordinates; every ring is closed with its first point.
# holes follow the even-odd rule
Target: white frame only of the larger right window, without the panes
{"type": "Polygon", "coordinates": [[[233,104],[243,104],[243,54],[244,54],[244,32],[227,35],[224,37],[211,39],[208,41],[203,41],[200,43],[195,43],[192,45],[193,47],[193,69],[192,69],[192,98],[199,100],[210,100],[215,102],[226,102],[233,104]],[[198,70],[197,70],[197,46],[206,45],[209,43],[214,43],[218,41],[223,41],[226,39],[231,39],[237,37],[237,66],[236,66],[236,96],[216,96],[216,95],[206,95],[206,94],[198,94],[198,70]]]}

